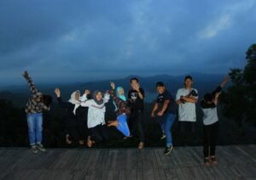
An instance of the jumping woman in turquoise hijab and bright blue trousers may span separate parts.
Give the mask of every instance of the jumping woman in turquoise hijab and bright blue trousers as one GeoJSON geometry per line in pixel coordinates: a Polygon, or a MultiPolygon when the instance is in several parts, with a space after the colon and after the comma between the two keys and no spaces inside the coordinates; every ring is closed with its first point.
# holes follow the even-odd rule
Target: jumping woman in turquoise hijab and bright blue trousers
{"type": "Polygon", "coordinates": [[[130,115],[130,108],[128,107],[128,102],[125,97],[125,91],[123,87],[117,87],[115,89],[115,84],[110,82],[112,90],[110,94],[113,96],[113,104],[115,106],[115,112],[117,115],[117,120],[109,121],[108,127],[116,127],[120,132],[122,132],[125,137],[130,136],[130,130],[127,125],[127,115],[130,115]]]}

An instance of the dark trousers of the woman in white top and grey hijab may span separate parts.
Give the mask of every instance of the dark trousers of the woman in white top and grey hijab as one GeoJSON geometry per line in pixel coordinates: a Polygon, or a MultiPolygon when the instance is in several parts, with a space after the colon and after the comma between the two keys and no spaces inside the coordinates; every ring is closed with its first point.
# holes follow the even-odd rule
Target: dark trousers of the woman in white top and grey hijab
{"type": "Polygon", "coordinates": [[[96,143],[108,140],[108,127],[106,125],[97,125],[96,127],[90,128],[92,140],[96,143]]]}

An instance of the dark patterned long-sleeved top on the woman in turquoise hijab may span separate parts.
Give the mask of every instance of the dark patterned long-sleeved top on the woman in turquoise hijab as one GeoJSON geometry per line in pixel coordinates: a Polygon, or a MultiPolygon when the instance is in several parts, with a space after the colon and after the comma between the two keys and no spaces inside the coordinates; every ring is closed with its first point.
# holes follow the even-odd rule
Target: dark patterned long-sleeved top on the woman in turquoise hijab
{"type": "Polygon", "coordinates": [[[130,115],[131,110],[128,105],[128,101],[124,101],[121,98],[117,97],[114,90],[110,90],[109,93],[113,97],[113,101],[117,106],[116,114],[117,115],[122,115],[122,114],[130,115]]]}

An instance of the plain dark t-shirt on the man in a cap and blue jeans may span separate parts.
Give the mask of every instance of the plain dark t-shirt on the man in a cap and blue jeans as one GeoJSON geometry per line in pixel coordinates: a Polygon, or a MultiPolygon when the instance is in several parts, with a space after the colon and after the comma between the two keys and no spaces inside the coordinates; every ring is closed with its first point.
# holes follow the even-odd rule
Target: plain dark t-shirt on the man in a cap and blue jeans
{"type": "Polygon", "coordinates": [[[159,110],[162,110],[162,107],[165,103],[166,100],[169,100],[170,103],[168,104],[166,111],[164,112],[164,114],[177,114],[177,104],[174,101],[174,98],[172,97],[172,94],[169,93],[167,90],[164,93],[161,93],[158,95],[156,102],[158,103],[158,108],[159,110]]]}

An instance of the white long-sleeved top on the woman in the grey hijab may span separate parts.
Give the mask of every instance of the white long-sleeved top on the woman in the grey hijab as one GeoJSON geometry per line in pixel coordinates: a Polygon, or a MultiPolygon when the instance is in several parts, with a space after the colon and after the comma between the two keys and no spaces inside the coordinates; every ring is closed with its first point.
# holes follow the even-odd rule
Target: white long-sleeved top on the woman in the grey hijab
{"type": "Polygon", "coordinates": [[[87,126],[88,128],[96,127],[97,125],[104,125],[105,122],[105,112],[106,107],[105,103],[108,103],[109,95],[105,94],[102,104],[96,104],[94,99],[86,100],[86,96],[83,95],[80,100],[82,101],[81,106],[89,107],[88,109],[88,119],[87,126]],[[85,101],[84,101],[85,100],[85,101]]]}

